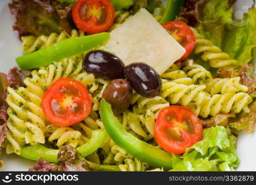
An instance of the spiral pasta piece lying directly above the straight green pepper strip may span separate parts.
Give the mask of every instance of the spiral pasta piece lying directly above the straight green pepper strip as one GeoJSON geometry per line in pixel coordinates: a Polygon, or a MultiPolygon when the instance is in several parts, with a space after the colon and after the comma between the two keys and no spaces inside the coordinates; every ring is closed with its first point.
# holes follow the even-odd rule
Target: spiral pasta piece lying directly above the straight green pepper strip
{"type": "Polygon", "coordinates": [[[62,31],[59,35],[57,33],[51,33],[51,35],[41,35],[38,38],[35,36],[23,36],[22,37],[22,52],[24,54],[29,54],[31,52],[37,51],[44,47],[51,46],[52,44],[59,43],[60,41],[67,38],[76,38],[79,36],[84,36],[85,33],[81,30],[72,30],[70,34],[67,31],[62,31]]]}

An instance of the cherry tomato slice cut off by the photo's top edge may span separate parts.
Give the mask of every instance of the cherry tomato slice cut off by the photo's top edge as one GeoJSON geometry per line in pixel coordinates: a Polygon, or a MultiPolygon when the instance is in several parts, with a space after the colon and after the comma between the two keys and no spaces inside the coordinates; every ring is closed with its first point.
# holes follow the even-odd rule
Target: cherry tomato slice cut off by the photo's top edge
{"type": "Polygon", "coordinates": [[[115,9],[110,0],[78,0],[72,17],[76,27],[86,33],[101,33],[113,24],[115,9]]]}

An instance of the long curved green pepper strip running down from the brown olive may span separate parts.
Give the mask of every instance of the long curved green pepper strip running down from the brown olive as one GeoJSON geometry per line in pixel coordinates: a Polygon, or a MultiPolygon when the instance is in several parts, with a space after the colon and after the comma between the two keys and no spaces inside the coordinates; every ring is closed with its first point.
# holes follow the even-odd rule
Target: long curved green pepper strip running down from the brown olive
{"type": "Polygon", "coordinates": [[[110,138],[129,154],[139,158],[143,162],[156,168],[170,170],[172,168],[173,155],[147,142],[135,138],[128,133],[112,112],[111,105],[105,99],[101,100],[101,121],[110,138]]]}

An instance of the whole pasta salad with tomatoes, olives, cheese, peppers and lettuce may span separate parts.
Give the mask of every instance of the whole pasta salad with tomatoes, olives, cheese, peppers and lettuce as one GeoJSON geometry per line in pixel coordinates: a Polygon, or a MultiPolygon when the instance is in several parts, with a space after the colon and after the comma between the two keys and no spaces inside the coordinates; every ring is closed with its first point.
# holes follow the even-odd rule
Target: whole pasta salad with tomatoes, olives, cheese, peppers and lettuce
{"type": "Polygon", "coordinates": [[[0,152],[29,171],[236,170],[256,10],[244,23],[234,2],[12,0],[23,55],[0,73],[0,152]]]}

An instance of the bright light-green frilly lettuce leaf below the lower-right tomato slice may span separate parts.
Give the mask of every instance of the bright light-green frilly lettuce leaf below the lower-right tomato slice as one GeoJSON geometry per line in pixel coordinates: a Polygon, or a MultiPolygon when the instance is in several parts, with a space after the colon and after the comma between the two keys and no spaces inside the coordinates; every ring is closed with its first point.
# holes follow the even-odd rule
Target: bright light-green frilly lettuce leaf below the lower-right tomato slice
{"type": "Polygon", "coordinates": [[[171,171],[233,171],[238,164],[236,137],[216,126],[205,129],[201,141],[176,156],[171,171]]]}

